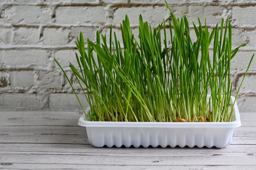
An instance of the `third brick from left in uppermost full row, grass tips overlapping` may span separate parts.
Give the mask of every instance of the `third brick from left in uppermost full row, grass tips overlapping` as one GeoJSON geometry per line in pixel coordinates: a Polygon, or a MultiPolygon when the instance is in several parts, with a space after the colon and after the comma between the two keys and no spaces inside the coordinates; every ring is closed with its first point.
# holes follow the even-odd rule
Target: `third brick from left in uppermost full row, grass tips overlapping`
{"type": "Polygon", "coordinates": [[[113,23],[120,24],[125,19],[125,15],[128,15],[130,24],[139,25],[139,14],[142,15],[144,21],[150,24],[160,24],[166,14],[166,7],[130,7],[130,8],[118,8],[114,12],[113,23]]]}

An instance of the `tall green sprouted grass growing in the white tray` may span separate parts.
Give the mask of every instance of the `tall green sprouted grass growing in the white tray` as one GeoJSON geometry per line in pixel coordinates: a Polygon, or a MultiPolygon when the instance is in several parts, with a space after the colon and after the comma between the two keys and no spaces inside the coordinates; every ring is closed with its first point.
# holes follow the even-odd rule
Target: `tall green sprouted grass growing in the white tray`
{"type": "MultiPolygon", "coordinates": [[[[90,121],[232,121],[230,65],[238,49],[231,49],[231,24],[222,19],[209,32],[194,24],[197,40],[192,42],[189,21],[175,17],[170,7],[168,28],[163,21],[155,29],[139,16],[139,37],[135,37],[126,15],[121,24],[124,47],[110,27],[110,37],[97,31],[97,42],[83,34],[77,38],[76,60],[70,63],[91,108],[90,121]],[[164,35],[161,35],[161,29],[164,35]],[[169,31],[170,37],[166,34],[169,31]],[[112,40],[112,33],[114,39],[112,40]],[[167,42],[171,42],[171,48],[167,42]],[[213,55],[209,45],[213,42],[213,55]],[[93,51],[97,56],[93,55],[93,51]],[[97,60],[95,60],[97,57],[97,60]],[[83,86],[86,86],[86,89],[83,86]],[[207,97],[210,94],[210,97],[207,97]],[[231,105],[231,106],[230,106],[231,105]],[[209,109],[211,108],[211,109],[209,109]]],[[[249,70],[254,55],[248,61],[249,70]]],[[[76,92],[65,71],[75,95],[76,92]]],[[[243,78],[244,80],[244,78],[243,78]]],[[[243,83],[243,81],[242,81],[243,83]]],[[[241,83],[241,84],[242,84],[241,83]]],[[[240,90],[241,85],[238,88],[240,90]]],[[[238,94],[237,92],[237,94],[238,94]]],[[[236,95],[237,98],[238,95],[236,95]]],[[[76,95],[82,109],[83,106],[76,95]]],[[[84,111],[84,109],[83,109],[84,111]]],[[[86,115],[86,114],[85,114],[86,115]]]]}

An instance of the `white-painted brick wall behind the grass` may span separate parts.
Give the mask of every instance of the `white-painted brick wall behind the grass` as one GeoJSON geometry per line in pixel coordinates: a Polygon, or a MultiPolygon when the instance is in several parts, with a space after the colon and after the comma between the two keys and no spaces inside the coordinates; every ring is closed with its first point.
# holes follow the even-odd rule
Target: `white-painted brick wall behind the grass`
{"type": "MultiPolygon", "coordinates": [[[[207,17],[213,28],[230,16],[233,45],[247,43],[233,59],[234,91],[256,51],[256,2],[254,0],[167,0],[177,16],[181,10],[189,20],[207,17]]],[[[169,14],[164,0],[1,0],[0,1],[0,109],[80,109],[67,80],[53,57],[67,70],[76,64],[74,41],[79,32],[95,41],[97,30],[109,35],[110,24],[121,40],[120,22],[125,14],[138,35],[138,17],[156,26],[169,14]]],[[[190,23],[191,24],[191,23],[190,23]]],[[[191,32],[195,38],[195,34],[191,32]]],[[[256,59],[241,88],[240,111],[256,110],[256,59]]],[[[78,88],[77,88],[78,89],[78,88]]],[[[81,91],[78,90],[78,93],[81,91]]],[[[82,94],[79,96],[83,97],[82,94]]],[[[83,98],[84,106],[88,103],[83,98]]]]}

